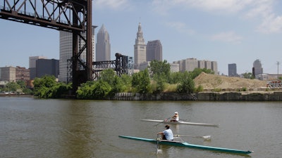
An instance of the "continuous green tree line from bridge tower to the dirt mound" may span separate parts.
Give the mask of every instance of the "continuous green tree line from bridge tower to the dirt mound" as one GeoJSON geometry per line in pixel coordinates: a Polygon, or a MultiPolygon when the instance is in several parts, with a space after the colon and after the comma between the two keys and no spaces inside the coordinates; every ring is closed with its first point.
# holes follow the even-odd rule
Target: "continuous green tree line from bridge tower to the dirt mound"
{"type": "Polygon", "coordinates": [[[202,91],[202,87],[195,88],[193,79],[201,72],[214,74],[212,70],[196,68],[192,72],[171,72],[169,63],[153,60],[147,69],[118,77],[114,70],[102,71],[97,81],[87,81],[77,91],[80,99],[108,99],[115,93],[161,93],[178,92],[194,93],[202,91]]]}

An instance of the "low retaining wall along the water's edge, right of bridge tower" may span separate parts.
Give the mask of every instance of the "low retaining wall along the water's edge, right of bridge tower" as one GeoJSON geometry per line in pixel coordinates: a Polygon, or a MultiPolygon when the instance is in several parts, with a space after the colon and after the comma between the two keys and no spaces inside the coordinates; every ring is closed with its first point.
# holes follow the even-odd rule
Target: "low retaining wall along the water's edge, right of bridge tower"
{"type": "Polygon", "coordinates": [[[282,101],[282,91],[188,93],[116,93],[113,100],[282,101]]]}

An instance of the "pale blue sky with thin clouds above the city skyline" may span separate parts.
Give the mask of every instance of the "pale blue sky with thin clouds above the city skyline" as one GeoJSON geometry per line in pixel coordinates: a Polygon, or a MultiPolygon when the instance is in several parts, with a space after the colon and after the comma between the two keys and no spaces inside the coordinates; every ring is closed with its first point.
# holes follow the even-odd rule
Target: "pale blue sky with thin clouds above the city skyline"
{"type": "MultiPolygon", "coordinates": [[[[138,23],[145,41],[159,39],[168,62],[197,58],[218,62],[220,74],[236,63],[252,72],[259,59],[266,73],[282,62],[282,1],[279,0],[94,0],[95,33],[104,24],[115,53],[134,56],[138,23]]],[[[0,67],[28,67],[28,57],[59,59],[59,32],[0,19],[0,67]]],[[[282,73],[282,63],[279,74],[282,73]]]]}

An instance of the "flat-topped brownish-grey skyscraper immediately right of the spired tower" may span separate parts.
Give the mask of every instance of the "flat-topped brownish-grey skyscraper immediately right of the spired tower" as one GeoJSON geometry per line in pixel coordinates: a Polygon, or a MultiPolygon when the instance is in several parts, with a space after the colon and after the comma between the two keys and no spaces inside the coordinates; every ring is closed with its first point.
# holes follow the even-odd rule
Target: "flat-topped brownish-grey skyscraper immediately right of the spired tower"
{"type": "Polygon", "coordinates": [[[148,41],[146,47],[146,58],[147,61],[163,60],[163,47],[161,46],[161,41],[159,40],[148,41]]]}

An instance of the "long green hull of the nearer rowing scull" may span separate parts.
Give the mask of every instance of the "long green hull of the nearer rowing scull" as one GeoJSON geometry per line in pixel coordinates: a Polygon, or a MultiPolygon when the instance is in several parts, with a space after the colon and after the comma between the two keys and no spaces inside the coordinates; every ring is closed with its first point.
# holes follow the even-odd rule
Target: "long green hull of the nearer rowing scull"
{"type": "MultiPolygon", "coordinates": [[[[132,137],[132,136],[118,136],[120,138],[128,138],[133,140],[142,140],[147,141],[151,143],[157,143],[157,140],[155,139],[148,139],[148,138],[138,138],[138,137],[132,137]]],[[[170,140],[159,140],[159,144],[162,145],[175,145],[175,146],[181,146],[181,147],[190,147],[195,149],[202,149],[202,150],[212,150],[216,152],[229,152],[234,154],[250,154],[252,151],[250,150],[235,150],[235,149],[229,149],[229,148],[223,148],[223,147],[211,147],[211,146],[205,146],[205,145],[195,145],[190,144],[186,142],[180,142],[180,141],[170,141],[170,140]]]]}

